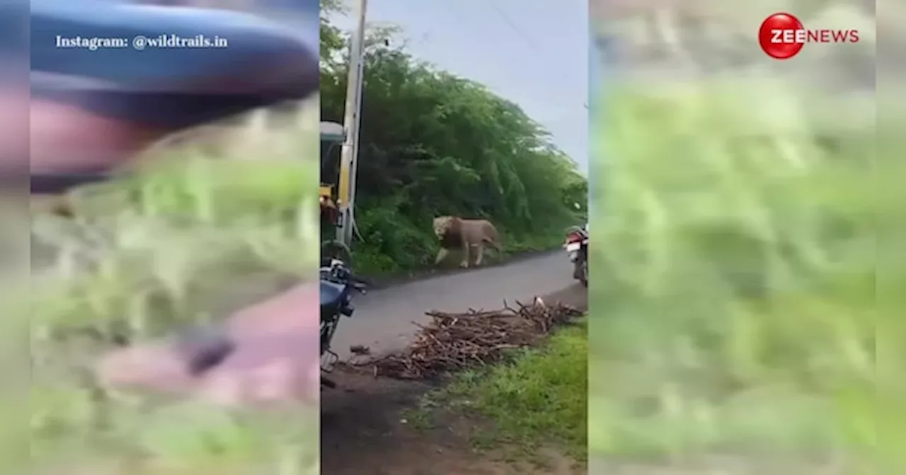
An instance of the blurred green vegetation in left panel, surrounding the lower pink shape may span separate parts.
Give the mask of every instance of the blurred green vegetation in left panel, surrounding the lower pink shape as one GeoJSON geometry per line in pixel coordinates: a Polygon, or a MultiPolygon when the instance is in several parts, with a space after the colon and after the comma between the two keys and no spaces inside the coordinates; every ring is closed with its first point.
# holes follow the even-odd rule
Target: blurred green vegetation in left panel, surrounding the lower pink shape
{"type": "Polygon", "coordinates": [[[80,190],[72,220],[34,216],[41,262],[21,321],[31,330],[36,473],[318,472],[313,407],[226,412],[110,394],[91,375],[116,339],[217,320],[312,275],[316,104],[270,128],[225,126],[235,129],[216,149],[152,151],[134,175],[80,190]]]}

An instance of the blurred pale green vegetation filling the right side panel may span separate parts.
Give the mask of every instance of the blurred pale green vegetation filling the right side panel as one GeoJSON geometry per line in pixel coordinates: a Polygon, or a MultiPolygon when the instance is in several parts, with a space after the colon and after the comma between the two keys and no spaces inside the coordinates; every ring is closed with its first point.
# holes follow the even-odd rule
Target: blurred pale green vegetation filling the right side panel
{"type": "Polygon", "coordinates": [[[879,223],[902,193],[878,201],[895,178],[848,93],[761,72],[614,82],[596,104],[593,459],[872,469],[879,223]]]}

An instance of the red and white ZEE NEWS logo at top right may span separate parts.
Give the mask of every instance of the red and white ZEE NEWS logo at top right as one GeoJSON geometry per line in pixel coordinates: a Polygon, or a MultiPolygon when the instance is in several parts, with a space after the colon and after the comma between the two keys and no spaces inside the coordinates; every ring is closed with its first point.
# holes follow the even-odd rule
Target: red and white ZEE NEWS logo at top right
{"type": "Polygon", "coordinates": [[[776,60],[788,60],[802,51],[805,43],[859,43],[859,30],[806,29],[792,14],[768,16],[758,29],[758,44],[776,60]]]}

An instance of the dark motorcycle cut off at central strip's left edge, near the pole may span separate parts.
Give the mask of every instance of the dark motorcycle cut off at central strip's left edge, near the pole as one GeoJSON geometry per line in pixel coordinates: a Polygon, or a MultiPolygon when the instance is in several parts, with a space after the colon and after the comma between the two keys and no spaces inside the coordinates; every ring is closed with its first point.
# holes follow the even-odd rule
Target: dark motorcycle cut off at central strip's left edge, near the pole
{"type": "MultiPolygon", "coordinates": [[[[368,284],[352,275],[352,270],[339,259],[331,259],[323,265],[321,273],[321,370],[333,371],[340,356],[331,350],[333,334],[340,325],[342,316],[352,317],[352,293],[367,293],[368,284]]],[[[334,388],[336,384],[322,376],[321,385],[334,388]]]]}

